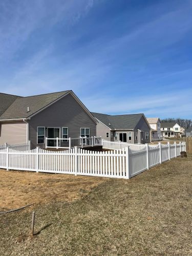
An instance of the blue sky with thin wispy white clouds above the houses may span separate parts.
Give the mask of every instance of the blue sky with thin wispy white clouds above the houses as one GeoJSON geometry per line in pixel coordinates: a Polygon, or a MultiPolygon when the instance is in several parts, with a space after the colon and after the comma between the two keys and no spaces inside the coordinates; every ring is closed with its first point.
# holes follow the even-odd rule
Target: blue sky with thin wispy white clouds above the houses
{"type": "Polygon", "coordinates": [[[1,0],[0,91],[192,118],[191,0],[1,0]]]}

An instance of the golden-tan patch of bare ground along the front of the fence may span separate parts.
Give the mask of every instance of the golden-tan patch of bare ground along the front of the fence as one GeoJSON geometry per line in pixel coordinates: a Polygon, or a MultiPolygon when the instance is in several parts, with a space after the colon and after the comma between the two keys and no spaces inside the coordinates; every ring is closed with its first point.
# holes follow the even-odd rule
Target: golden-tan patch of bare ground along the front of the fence
{"type": "Polygon", "coordinates": [[[88,194],[104,178],[0,169],[0,209],[31,203],[71,202],[88,194]]]}

